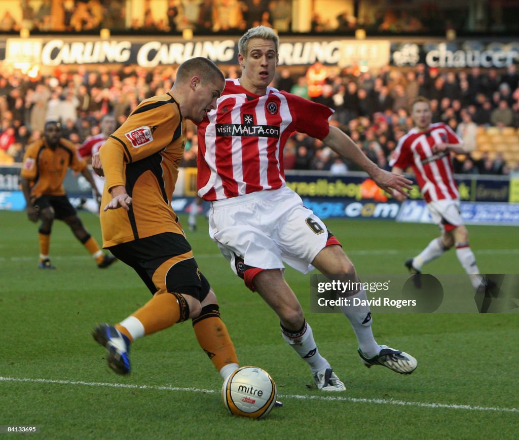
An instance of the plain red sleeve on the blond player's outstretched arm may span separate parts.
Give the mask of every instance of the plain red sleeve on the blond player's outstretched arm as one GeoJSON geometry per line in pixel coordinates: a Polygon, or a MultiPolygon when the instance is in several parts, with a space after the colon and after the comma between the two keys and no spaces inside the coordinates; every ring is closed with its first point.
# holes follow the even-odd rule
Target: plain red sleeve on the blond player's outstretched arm
{"type": "Polygon", "coordinates": [[[330,107],[309,101],[292,93],[281,92],[288,100],[293,117],[293,129],[323,140],[330,131],[329,119],[334,111],[330,107]]]}

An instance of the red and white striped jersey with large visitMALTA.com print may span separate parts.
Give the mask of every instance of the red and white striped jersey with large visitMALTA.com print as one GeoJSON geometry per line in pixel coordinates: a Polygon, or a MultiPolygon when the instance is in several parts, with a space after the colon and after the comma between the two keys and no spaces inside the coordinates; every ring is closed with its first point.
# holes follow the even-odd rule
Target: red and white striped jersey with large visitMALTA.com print
{"type": "Polygon", "coordinates": [[[285,185],[283,148],[294,132],[324,139],[333,110],[292,93],[267,88],[263,96],[227,79],[198,125],[198,195],[214,201],[285,185]]]}

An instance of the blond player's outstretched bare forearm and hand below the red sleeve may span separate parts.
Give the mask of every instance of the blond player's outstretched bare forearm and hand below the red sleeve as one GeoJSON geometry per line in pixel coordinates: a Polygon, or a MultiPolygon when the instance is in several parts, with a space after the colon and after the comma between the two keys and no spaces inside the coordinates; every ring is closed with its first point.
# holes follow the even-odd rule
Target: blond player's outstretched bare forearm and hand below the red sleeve
{"type": "Polygon", "coordinates": [[[353,162],[368,173],[375,183],[387,192],[398,191],[404,197],[407,193],[404,189],[411,189],[413,183],[402,175],[390,173],[377,166],[370,160],[351,138],[337,127],[330,126],[330,132],[323,139],[325,145],[329,146],[339,156],[353,162]]]}

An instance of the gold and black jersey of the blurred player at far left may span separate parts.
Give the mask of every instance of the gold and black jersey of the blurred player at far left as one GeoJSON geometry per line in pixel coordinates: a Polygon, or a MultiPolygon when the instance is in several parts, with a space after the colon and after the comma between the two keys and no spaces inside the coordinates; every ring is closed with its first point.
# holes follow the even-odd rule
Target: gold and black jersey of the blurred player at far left
{"type": "Polygon", "coordinates": [[[20,176],[31,181],[31,196],[63,196],[63,180],[67,169],[83,171],[87,166],[77,153],[76,146],[66,139],[60,139],[56,148],[51,149],[45,140],[30,144],[23,156],[20,176]]]}

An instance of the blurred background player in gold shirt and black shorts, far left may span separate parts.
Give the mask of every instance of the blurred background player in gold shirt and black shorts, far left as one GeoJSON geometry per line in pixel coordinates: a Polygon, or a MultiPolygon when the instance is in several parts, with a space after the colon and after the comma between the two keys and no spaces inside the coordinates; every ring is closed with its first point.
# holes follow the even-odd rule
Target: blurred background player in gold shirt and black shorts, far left
{"type": "Polygon", "coordinates": [[[21,171],[21,187],[26,211],[31,222],[42,221],[38,229],[40,269],[56,269],[49,258],[50,233],[54,218],[65,222],[74,236],[86,247],[99,268],[110,266],[115,258],[104,254],[95,239],[87,232],[71,205],[63,188],[67,169],[80,172],[92,186],[96,199],[101,195],[87,169],[86,162],[77,154],[76,147],[61,137],[61,125],[56,121],[45,123],[44,137],[27,147],[21,171]]]}

